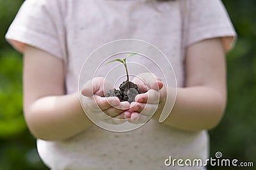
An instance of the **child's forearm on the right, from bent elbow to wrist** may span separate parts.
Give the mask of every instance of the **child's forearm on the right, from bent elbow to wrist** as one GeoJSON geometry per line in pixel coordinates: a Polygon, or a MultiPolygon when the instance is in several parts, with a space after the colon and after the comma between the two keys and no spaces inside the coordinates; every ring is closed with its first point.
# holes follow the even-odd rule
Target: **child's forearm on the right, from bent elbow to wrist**
{"type": "MultiPolygon", "coordinates": [[[[173,110],[163,124],[186,131],[212,129],[220,122],[225,105],[226,94],[211,87],[177,88],[173,110]]],[[[160,114],[154,118],[158,120],[160,114]]]]}

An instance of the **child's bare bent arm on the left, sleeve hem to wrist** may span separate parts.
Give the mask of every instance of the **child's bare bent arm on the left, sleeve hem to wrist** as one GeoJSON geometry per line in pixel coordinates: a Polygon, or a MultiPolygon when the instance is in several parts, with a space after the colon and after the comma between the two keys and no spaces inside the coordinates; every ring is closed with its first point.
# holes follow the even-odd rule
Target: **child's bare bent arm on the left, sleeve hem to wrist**
{"type": "Polygon", "coordinates": [[[78,93],[65,95],[62,60],[26,46],[23,75],[24,115],[36,138],[67,139],[92,125],[78,93]]]}

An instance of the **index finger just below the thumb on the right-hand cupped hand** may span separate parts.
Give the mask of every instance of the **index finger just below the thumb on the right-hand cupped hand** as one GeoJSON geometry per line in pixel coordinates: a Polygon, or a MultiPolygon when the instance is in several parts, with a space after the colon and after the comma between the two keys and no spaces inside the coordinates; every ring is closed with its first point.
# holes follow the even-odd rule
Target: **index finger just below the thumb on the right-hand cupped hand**
{"type": "Polygon", "coordinates": [[[160,101],[160,91],[150,89],[146,93],[138,94],[135,97],[135,101],[138,102],[138,103],[157,104],[160,101]]]}

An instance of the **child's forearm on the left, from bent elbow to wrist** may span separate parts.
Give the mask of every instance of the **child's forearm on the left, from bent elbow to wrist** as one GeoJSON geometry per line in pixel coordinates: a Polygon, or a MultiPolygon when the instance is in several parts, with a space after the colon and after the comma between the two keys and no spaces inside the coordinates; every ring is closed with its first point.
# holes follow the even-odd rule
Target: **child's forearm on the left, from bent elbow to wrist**
{"type": "Polygon", "coordinates": [[[51,141],[70,138],[92,125],[77,93],[37,99],[25,110],[25,117],[36,138],[51,141]]]}

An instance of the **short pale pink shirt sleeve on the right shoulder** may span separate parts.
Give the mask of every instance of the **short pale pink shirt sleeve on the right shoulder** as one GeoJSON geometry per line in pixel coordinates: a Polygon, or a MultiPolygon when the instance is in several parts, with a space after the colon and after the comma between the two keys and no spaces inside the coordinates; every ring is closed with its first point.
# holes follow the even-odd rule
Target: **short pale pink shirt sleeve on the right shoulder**
{"type": "Polygon", "coordinates": [[[222,38],[227,52],[236,41],[236,31],[220,0],[188,0],[182,3],[185,47],[209,38],[222,38]]]}

